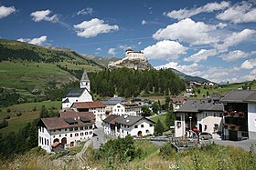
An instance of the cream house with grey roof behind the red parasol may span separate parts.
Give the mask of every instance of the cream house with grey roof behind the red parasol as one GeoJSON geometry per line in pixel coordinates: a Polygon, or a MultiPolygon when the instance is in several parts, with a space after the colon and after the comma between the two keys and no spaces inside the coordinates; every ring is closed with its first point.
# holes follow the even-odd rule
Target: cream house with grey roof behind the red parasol
{"type": "Polygon", "coordinates": [[[176,111],[176,137],[189,135],[190,130],[219,133],[222,129],[223,105],[217,100],[191,99],[176,111]]]}

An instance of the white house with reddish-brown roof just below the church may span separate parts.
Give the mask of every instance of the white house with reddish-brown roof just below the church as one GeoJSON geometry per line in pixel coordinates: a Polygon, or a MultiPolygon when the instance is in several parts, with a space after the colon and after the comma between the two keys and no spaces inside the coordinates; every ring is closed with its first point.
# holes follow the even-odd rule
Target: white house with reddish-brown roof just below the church
{"type": "Polygon", "coordinates": [[[106,118],[105,105],[101,101],[75,102],[70,108],[76,112],[92,112],[97,122],[102,122],[102,120],[106,118]]]}

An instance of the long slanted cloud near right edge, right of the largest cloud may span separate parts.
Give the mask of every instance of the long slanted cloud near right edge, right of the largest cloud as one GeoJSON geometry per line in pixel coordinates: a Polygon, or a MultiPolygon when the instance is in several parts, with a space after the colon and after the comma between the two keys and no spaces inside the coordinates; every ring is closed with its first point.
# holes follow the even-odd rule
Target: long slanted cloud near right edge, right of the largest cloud
{"type": "Polygon", "coordinates": [[[238,45],[242,41],[251,37],[256,33],[255,30],[244,29],[240,33],[233,33],[223,40],[223,44],[216,45],[219,51],[227,51],[230,46],[238,45]]]}

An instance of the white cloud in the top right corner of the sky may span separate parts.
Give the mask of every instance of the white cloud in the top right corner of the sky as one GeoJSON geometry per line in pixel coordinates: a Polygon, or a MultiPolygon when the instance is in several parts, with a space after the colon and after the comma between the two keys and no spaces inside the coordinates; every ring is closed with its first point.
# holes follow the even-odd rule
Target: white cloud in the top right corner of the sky
{"type": "Polygon", "coordinates": [[[229,9],[216,17],[223,21],[231,21],[232,23],[256,22],[256,8],[252,6],[252,4],[243,1],[240,4],[229,7],[229,9]]]}

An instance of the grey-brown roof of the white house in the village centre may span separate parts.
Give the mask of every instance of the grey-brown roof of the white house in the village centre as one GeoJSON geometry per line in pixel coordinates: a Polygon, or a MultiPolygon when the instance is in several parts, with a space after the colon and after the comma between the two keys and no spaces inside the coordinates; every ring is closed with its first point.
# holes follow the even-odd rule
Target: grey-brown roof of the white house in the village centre
{"type": "Polygon", "coordinates": [[[123,124],[123,125],[134,125],[135,123],[137,123],[143,119],[155,124],[154,121],[152,121],[148,118],[145,118],[143,116],[134,116],[134,115],[122,115],[122,116],[118,117],[118,119],[116,120],[116,123],[123,124]]]}

